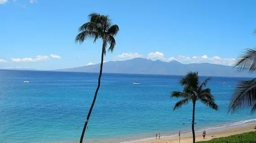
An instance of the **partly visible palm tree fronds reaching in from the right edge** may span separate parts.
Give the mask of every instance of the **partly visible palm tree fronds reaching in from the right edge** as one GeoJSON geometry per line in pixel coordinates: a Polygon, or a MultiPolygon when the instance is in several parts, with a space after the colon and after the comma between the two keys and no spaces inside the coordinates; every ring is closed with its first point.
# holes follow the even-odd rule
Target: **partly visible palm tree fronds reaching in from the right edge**
{"type": "MultiPolygon", "coordinates": [[[[256,30],[254,31],[256,34],[256,30]]],[[[256,72],[256,48],[245,49],[234,67],[238,71],[247,70],[250,73],[256,72]]],[[[256,110],[256,78],[252,80],[240,80],[231,96],[228,113],[234,114],[241,109],[256,110]]]]}

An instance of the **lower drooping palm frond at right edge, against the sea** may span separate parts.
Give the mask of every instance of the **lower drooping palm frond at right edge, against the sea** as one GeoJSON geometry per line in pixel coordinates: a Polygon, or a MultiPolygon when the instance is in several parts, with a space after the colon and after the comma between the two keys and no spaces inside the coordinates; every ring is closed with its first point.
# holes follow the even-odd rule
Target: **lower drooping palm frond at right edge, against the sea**
{"type": "Polygon", "coordinates": [[[228,113],[234,114],[240,109],[247,109],[256,103],[256,78],[239,81],[231,96],[228,113]]]}

